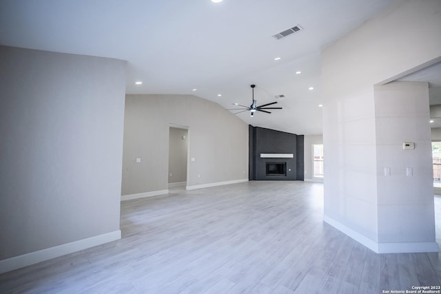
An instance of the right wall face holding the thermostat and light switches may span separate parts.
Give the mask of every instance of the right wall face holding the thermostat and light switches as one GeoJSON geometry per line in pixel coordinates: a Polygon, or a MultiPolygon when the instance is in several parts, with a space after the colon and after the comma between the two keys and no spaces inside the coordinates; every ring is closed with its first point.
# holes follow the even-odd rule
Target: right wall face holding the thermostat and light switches
{"type": "Polygon", "coordinates": [[[374,96],[378,242],[433,242],[429,83],[377,85],[374,96]],[[403,150],[403,142],[413,142],[416,147],[403,150]],[[391,169],[391,176],[384,176],[385,167],[391,169]],[[408,167],[412,176],[407,176],[408,167]]]}

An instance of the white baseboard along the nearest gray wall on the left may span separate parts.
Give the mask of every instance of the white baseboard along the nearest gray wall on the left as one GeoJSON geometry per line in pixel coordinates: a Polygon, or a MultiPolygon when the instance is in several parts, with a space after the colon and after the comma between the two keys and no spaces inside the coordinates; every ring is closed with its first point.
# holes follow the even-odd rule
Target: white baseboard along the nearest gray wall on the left
{"type": "Polygon", "coordinates": [[[31,253],[26,253],[6,260],[0,260],[0,273],[6,273],[13,271],[14,269],[20,269],[24,266],[50,260],[52,258],[58,258],[61,255],[74,253],[83,249],[88,249],[93,246],[98,246],[107,242],[121,239],[121,231],[113,231],[105,233],[103,235],[96,235],[94,237],[78,240],[59,246],[50,247],[31,253]]]}

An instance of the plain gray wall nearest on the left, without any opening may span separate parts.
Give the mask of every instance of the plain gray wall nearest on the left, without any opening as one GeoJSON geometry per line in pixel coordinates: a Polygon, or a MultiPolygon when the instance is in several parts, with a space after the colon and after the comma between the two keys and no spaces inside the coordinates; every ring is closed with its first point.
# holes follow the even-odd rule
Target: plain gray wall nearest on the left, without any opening
{"type": "Polygon", "coordinates": [[[0,260],[119,231],[125,62],[0,46],[0,260]]]}

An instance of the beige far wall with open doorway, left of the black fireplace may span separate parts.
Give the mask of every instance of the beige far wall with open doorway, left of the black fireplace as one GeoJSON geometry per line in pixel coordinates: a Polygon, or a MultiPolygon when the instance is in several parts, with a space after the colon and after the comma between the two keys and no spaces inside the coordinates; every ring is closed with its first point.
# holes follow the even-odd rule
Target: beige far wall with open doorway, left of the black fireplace
{"type": "Polygon", "coordinates": [[[122,195],[167,189],[170,124],[189,127],[195,161],[187,185],[247,179],[248,125],[242,120],[192,95],[127,95],[122,195]]]}

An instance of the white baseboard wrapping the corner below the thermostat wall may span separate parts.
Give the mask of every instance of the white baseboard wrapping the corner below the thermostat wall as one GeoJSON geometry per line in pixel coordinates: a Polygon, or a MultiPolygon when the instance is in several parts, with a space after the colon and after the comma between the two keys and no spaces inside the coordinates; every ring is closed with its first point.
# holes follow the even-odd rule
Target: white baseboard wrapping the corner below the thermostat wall
{"type": "Polygon", "coordinates": [[[353,240],[367,246],[367,248],[375,253],[424,253],[439,251],[437,242],[378,243],[347,227],[345,224],[342,224],[333,218],[329,218],[329,216],[323,216],[323,221],[342,233],[345,233],[353,240]]]}

